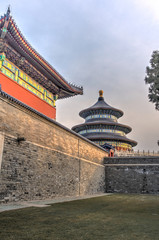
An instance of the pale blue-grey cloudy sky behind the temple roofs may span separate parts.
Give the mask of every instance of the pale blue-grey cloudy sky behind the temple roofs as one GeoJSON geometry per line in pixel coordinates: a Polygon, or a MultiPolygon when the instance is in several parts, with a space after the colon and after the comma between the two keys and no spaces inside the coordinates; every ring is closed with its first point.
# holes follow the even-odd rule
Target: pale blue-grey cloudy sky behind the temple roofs
{"type": "Polygon", "coordinates": [[[0,0],[8,5],[27,41],[84,94],[57,101],[57,121],[84,122],[79,112],[104,91],[105,101],[124,112],[135,150],[159,151],[159,111],[148,100],[146,66],[159,50],[158,0],[0,0]]]}

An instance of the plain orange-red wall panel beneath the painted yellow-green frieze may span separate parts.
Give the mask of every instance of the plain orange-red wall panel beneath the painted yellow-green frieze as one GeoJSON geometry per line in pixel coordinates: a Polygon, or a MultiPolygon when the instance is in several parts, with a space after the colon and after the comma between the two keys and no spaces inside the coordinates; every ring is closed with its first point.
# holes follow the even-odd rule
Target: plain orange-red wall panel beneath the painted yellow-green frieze
{"type": "Polygon", "coordinates": [[[2,91],[8,93],[12,97],[25,103],[38,112],[46,115],[49,118],[56,118],[56,108],[52,107],[27,89],[14,82],[12,79],[0,72],[0,84],[2,91]]]}

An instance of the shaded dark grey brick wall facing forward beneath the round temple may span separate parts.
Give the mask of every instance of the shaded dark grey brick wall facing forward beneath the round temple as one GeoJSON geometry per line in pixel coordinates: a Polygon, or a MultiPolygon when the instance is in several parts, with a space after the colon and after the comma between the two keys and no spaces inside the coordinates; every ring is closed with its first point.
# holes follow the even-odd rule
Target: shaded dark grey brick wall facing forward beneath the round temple
{"type": "Polygon", "coordinates": [[[106,192],[159,194],[159,157],[105,159],[106,192]]]}

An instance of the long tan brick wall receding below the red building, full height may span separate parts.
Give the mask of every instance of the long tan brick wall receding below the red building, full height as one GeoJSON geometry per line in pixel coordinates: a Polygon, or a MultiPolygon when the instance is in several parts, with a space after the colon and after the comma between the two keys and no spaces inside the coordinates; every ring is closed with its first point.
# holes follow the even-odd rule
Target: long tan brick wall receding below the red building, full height
{"type": "Polygon", "coordinates": [[[55,121],[0,97],[1,202],[104,192],[107,155],[55,121]]]}

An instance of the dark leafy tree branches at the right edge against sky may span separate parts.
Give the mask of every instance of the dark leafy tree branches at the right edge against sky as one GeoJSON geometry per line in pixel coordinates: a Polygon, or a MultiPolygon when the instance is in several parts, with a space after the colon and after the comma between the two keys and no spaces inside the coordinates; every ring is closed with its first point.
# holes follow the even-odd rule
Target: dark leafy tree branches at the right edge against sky
{"type": "Polygon", "coordinates": [[[149,84],[148,98],[159,110],[159,51],[154,51],[150,59],[150,67],[146,67],[145,83],[149,84]]]}

